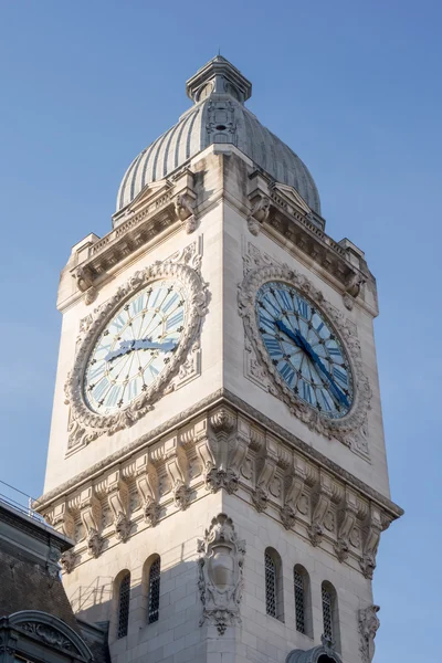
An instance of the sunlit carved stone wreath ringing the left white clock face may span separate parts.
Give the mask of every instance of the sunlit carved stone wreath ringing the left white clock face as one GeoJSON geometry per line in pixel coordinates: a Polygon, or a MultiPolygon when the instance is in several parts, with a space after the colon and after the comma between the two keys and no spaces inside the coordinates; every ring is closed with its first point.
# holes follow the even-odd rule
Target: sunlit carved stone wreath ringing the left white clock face
{"type": "Polygon", "coordinates": [[[104,433],[115,433],[131,425],[146,412],[167,390],[171,390],[171,379],[178,373],[187,354],[193,346],[201,320],[207,313],[208,290],[199,273],[187,264],[171,261],[156,262],[140,272],[136,272],[128,282],[118,287],[113,297],[99,306],[87,325],[84,337],[80,340],[74,369],[69,373],[64,387],[66,404],[71,406],[70,446],[87,444],[104,433]],[[186,291],[189,315],[180,343],[167,367],[158,378],[129,406],[113,414],[97,414],[84,402],[83,380],[90,354],[103,326],[112,315],[137,291],[159,278],[175,278],[186,291]]]}

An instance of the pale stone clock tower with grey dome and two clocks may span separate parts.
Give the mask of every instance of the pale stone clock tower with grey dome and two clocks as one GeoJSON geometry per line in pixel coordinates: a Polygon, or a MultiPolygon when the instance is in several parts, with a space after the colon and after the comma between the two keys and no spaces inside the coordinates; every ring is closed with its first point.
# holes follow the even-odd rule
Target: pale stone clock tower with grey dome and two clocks
{"type": "Polygon", "coordinates": [[[44,495],[117,663],[368,663],[390,501],[364,252],[214,57],[76,244],[44,495]]]}

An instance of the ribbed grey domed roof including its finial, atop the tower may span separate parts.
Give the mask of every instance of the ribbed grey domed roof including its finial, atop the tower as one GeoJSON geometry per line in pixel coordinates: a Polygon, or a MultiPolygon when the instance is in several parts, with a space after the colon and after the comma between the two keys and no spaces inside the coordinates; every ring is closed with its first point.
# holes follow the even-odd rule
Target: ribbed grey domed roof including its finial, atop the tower
{"type": "Polygon", "coordinates": [[[117,211],[141,189],[164,179],[211,144],[231,143],[274,180],[294,187],[320,214],[319,194],[307,167],[244,106],[251,83],[218,55],[187,82],[192,106],[173,127],[134,159],[117,196],[117,211]]]}

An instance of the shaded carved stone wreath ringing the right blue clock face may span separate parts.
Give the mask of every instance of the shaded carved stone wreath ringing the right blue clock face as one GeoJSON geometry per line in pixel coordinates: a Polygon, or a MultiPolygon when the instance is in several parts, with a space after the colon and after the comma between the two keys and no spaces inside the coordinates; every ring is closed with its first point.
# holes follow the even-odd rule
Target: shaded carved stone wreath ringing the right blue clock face
{"type": "Polygon", "coordinates": [[[273,383],[276,387],[273,391],[274,396],[281,398],[290,407],[291,411],[306,423],[309,429],[325,434],[327,438],[336,438],[346,445],[350,445],[352,434],[360,430],[366,422],[367,410],[370,407],[371,399],[370,386],[362,368],[360,343],[352,323],[347,320],[339,311],[332,306],[325,299],[323,293],[306,276],[287,265],[261,264],[250,270],[239,286],[238,303],[240,315],[244,322],[246,337],[252,344],[257,360],[272,377],[273,383]],[[355,381],[354,403],[350,411],[341,419],[330,419],[320,415],[319,412],[305,403],[287,387],[284,379],[273,366],[261,339],[255,316],[257,291],[269,281],[282,281],[288,285],[293,285],[293,287],[311,299],[312,303],[327,315],[332,325],[338,332],[338,336],[347,352],[355,381]]]}

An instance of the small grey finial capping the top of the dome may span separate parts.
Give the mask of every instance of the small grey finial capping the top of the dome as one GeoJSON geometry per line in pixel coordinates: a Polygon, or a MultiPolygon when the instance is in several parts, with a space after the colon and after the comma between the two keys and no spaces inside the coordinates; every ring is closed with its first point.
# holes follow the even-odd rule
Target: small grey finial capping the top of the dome
{"type": "Polygon", "coordinates": [[[189,78],[186,92],[196,104],[210,94],[229,94],[243,104],[252,96],[252,83],[218,54],[189,78]]]}

